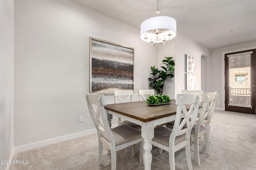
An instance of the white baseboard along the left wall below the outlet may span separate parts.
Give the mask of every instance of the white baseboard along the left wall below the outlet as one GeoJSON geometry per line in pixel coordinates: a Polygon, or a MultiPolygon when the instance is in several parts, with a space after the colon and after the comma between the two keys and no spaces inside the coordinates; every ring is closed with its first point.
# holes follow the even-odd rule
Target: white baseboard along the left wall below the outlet
{"type": "Polygon", "coordinates": [[[70,139],[91,135],[94,133],[97,133],[96,129],[92,129],[89,131],[83,131],[83,132],[79,132],[79,133],[74,133],[74,134],[70,134],[70,135],[66,135],[66,136],[62,136],[62,137],[56,137],[53,139],[48,139],[48,140],[40,141],[40,142],[36,142],[36,143],[30,143],[27,145],[22,145],[19,147],[15,147],[15,154],[20,153],[20,152],[25,152],[28,150],[32,150],[32,149],[36,149],[36,148],[40,148],[40,147],[44,147],[47,145],[52,145],[52,144],[58,143],[58,142],[63,142],[63,141],[67,141],[70,139]]]}

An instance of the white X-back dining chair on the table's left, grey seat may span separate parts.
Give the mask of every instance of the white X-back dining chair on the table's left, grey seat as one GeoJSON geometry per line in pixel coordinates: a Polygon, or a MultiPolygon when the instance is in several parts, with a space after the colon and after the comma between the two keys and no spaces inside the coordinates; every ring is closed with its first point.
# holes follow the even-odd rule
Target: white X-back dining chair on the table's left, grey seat
{"type": "Polygon", "coordinates": [[[141,131],[128,125],[110,129],[104,109],[104,95],[87,93],[86,101],[92,121],[97,129],[99,143],[98,166],[102,160],[102,144],[111,152],[111,170],[116,170],[116,151],[140,143],[140,164],[142,164],[141,131]]]}

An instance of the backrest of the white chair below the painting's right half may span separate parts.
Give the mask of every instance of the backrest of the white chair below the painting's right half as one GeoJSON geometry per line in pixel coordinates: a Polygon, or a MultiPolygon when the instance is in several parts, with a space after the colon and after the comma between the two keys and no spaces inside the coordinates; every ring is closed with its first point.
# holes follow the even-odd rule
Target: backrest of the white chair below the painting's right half
{"type": "Polygon", "coordinates": [[[133,101],[133,90],[114,90],[114,102],[125,103],[133,101]]]}

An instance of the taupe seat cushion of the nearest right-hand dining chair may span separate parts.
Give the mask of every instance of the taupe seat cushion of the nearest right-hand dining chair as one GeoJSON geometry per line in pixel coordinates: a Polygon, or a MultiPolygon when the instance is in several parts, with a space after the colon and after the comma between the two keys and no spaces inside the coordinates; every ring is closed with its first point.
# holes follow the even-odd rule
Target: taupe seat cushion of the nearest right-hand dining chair
{"type": "MultiPolygon", "coordinates": [[[[168,129],[167,127],[164,127],[164,126],[158,126],[154,129],[154,138],[152,140],[169,147],[169,139],[170,139],[171,133],[172,133],[171,129],[168,129]]],[[[185,135],[177,136],[175,138],[174,145],[184,140],[186,140],[185,135]]]]}

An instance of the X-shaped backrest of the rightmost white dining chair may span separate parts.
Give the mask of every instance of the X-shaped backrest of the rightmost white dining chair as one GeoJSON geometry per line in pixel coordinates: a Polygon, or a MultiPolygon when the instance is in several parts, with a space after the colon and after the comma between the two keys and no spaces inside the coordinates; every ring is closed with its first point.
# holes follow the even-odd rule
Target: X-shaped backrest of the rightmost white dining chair
{"type": "Polygon", "coordinates": [[[212,118],[212,115],[214,113],[214,109],[217,103],[218,94],[217,92],[211,92],[211,93],[204,93],[203,97],[203,107],[202,112],[200,113],[199,120],[197,122],[198,128],[201,125],[210,123],[210,119],[212,118]]]}

